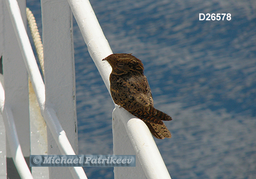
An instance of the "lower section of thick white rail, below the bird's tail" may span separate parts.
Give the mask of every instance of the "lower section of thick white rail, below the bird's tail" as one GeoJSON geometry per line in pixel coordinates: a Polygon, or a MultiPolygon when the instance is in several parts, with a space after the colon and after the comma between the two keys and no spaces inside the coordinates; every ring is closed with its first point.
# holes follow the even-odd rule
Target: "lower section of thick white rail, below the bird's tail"
{"type": "Polygon", "coordinates": [[[115,107],[114,117],[121,118],[147,179],[171,179],[157,145],[146,124],[124,108],[115,107]]]}

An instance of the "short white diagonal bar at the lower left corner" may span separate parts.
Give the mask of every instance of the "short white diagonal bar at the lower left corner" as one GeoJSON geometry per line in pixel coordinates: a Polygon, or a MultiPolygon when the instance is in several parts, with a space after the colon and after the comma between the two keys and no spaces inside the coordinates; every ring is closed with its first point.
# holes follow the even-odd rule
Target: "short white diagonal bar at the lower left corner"
{"type": "Polygon", "coordinates": [[[19,172],[19,175],[23,179],[27,179],[27,178],[32,179],[33,176],[24,159],[22,148],[20,148],[12,111],[10,107],[7,104],[5,104],[5,91],[1,82],[0,82],[0,110],[3,115],[5,128],[6,128],[6,135],[9,141],[12,158],[19,172]]]}

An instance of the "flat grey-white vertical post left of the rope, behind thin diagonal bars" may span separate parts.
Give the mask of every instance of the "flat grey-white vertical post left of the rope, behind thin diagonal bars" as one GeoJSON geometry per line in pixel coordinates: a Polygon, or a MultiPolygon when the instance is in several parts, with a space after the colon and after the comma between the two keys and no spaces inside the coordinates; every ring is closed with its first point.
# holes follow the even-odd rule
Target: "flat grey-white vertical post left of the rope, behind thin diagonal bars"
{"type": "MultiPolygon", "coordinates": [[[[4,9],[4,52],[2,55],[5,104],[9,105],[12,110],[20,145],[25,158],[28,160],[30,155],[28,73],[19,50],[8,8],[5,2],[2,3],[4,9]]],[[[26,25],[26,1],[18,0],[18,5],[26,25]]],[[[13,163],[9,149],[7,150],[7,158],[9,158],[7,159],[8,167],[9,162],[13,163]]],[[[10,168],[8,172],[13,174],[15,171],[15,168],[10,168]]]]}

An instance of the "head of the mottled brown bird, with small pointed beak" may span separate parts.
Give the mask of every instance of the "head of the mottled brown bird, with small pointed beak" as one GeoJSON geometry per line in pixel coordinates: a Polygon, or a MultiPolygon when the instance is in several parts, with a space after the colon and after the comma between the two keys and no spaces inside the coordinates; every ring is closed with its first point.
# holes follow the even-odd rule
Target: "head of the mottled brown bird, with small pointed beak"
{"type": "Polygon", "coordinates": [[[112,74],[114,75],[123,75],[128,73],[143,74],[143,63],[131,54],[112,54],[103,60],[110,63],[112,67],[112,74]]]}

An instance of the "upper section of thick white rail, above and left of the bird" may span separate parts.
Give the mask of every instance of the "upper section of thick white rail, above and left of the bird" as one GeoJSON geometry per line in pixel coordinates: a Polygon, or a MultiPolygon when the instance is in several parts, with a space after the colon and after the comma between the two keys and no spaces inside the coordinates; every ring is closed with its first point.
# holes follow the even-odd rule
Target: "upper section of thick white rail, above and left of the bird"
{"type": "Polygon", "coordinates": [[[110,92],[109,76],[112,71],[110,65],[101,60],[112,54],[108,40],[106,40],[92,6],[88,0],[68,0],[76,18],[88,51],[99,70],[99,73],[110,92]]]}

